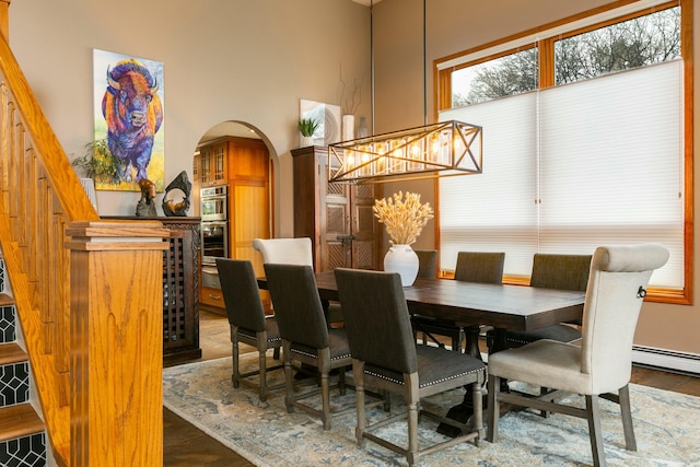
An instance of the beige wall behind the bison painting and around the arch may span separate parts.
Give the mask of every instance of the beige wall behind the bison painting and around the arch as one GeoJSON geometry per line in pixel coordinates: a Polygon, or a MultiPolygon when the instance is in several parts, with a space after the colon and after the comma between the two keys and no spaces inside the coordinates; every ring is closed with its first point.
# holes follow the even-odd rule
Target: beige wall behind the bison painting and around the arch
{"type": "MultiPolygon", "coordinates": [[[[291,236],[290,150],[300,98],[340,103],[362,81],[370,109],[370,14],[350,0],[15,0],[10,44],[68,154],[92,140],[93,48],[164,63],[165,183],[221,121],[258,130],[276,173],[277,235],[291,236]]],[[[98,191],[102,215],[132,215],[140,195],[98,191]]],[[[160,198],[159,198],[160,199],[160,198]]],[[[159,202],[160,208],[160,202],[159,202]]]]}

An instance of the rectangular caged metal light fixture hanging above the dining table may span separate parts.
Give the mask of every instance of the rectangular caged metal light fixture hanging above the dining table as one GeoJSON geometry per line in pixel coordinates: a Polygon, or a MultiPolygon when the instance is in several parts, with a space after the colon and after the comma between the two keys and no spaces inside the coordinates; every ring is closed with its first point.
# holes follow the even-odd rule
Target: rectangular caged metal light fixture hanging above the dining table
{"type": "Polygon", "coordinates": [[[450,120],[328,145],[328,182],[413,180],[481,173],[481,127],[450,120]]]}

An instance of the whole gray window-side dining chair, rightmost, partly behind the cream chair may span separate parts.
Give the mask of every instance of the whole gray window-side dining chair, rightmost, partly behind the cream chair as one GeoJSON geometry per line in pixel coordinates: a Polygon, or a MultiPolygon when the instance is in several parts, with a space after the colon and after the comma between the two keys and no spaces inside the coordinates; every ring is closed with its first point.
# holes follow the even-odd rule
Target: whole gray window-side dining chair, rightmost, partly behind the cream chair
{"type": "MultiPolygon", "coordinates": [[[[585,292],[591,269],[591,255],[560,255],[537,253],[533,257],[530,287],[541,289],[575,290],[585,292]]],[[[581,325],[581,320],[571,323],[581,325]]],[[[557,324],[527,331],[508,330],[506,346],[521,347],[539,339],[573,342],[581,339],[581,331],[570,324],[557,324]]],[[[487,345],[493,347],[493,332],[487,332],[487,345]]]]}

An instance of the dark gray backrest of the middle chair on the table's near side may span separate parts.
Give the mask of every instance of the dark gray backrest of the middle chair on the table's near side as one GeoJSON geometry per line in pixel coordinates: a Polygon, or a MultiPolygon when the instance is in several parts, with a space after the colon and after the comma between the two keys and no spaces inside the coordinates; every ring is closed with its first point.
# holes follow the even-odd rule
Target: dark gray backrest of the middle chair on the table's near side
{"type": "Polygon", "coordinates": [[[328,347],[328,328],[311,266],[265,264],[267,287],[282,339],[328,347]]]}

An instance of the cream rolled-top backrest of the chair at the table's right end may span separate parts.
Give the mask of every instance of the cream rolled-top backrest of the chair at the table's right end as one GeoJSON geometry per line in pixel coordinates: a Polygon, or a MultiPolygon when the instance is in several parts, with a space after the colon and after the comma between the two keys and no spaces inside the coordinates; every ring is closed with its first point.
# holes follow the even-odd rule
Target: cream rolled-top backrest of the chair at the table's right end
{"type": "Polygon", "coordinates": [[[581,371],[592,376],[592,394],[629,382],[640,291],[667,260],[668,250],[658,244],[598,247],[593,254],[581,347],[581,371]]]}

